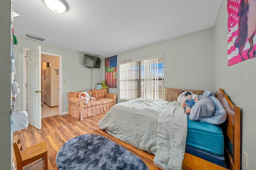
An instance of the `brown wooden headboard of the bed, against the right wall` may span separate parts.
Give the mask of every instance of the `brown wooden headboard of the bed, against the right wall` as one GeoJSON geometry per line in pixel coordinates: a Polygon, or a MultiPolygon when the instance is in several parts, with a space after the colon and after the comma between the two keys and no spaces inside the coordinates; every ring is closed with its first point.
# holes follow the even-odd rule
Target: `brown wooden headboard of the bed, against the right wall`
{"type": "Polygon", "coordinates": [[[215,92],[228,117],[223,123],[226,162],[230,170],[240,170],[241,113],[240,108],[233,105],[222,89],[215,92]]]}

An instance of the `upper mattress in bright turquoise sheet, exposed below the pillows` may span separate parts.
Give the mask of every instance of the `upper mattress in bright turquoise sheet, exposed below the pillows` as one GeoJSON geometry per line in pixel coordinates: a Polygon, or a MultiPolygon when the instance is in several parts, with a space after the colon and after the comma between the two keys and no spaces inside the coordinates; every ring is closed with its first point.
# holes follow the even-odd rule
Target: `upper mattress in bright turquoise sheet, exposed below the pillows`
{"type": "Polygon", "coordinates": [[[186,145],[217,156],[223,156],[224,136],[222,129],[218,125],[188,119],[186,145]]]}

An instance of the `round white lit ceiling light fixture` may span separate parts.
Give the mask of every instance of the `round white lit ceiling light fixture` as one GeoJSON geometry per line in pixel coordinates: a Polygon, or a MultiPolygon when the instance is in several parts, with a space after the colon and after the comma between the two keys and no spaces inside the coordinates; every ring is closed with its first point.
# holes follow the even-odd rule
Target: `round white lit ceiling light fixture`
{"type": "Polygon", "coordinates": [[[44,0],[44,3],[54,12],[65,12],[68,10],[68,5],[64,0],[44,0]]]}

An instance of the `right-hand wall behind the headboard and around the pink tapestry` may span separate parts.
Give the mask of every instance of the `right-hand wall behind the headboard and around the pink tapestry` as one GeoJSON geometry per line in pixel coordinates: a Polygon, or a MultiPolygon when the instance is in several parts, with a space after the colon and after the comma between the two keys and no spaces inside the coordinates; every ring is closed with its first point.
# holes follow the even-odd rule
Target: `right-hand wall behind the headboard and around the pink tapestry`
{"type": "MultiPolygon", "coordinates": [[[[218,19],[214,26],[214,89],[222,88],[233,103],[240,107],[241,165],[242,151],[248,155],[248,169],[256,169],[256,58],[228,65],[227,56],[227,1],[222,1],[218,19]]],[[[255,42],[254,42],[255,43],[255,42]]]]}

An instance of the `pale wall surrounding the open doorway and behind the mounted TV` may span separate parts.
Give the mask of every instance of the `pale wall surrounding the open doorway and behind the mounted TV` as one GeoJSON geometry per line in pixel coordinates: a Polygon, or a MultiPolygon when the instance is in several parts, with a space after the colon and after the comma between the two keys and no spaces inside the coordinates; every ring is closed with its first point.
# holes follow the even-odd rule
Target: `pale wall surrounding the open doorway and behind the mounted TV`
{"type": "MultiPolygon", "coordinates": [[[[15,22],[15,20],[14,20],[15,22]]],[[[16,30],[18,28],[15,28],[16,30]]],[[[91,73],[92,73],[92,89],[98,82],[104,80],[104,59],[102,59],[101,69],[93,69],[92,72],[83,66],[84,52],[74,51],[71,49],[58,47],[43,42],[28,40],[18,36],[18,44],[14,45],[15,67],[17,70],[16,81],[22,89],[22,48],[31,49],[41,45],[41,50],[48,53],[62,55],[62,111],[68,111],[68,92],[90,90],[91,73]],[[66,83],[64,83],[64,80],[66,83]]],[[[19,105],[23,105],[22,90],[18,95],[19,105]]]]}

